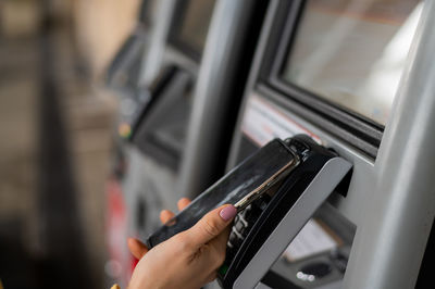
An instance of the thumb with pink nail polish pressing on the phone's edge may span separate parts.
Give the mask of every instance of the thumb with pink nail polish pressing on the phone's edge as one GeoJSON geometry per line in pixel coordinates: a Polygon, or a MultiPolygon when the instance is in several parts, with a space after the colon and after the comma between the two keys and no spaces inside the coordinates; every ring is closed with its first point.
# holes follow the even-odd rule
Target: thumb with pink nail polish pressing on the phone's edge
{"type": "Polygon", "coordinates": [[[191,243],[202,246],[217,237],[237,214],[232,204],[224,204],[206,214],[194,227],[188,229],[191,243]]]}

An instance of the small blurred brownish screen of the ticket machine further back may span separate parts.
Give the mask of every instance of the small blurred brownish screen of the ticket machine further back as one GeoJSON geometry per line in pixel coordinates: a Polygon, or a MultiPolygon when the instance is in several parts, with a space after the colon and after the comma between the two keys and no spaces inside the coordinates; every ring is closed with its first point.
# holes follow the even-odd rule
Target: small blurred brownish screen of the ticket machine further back
{"type": "Polygon", "coordinates": [[[190,0],[179,29],[181,40],[201,53],[215,0],[190,0]]]}

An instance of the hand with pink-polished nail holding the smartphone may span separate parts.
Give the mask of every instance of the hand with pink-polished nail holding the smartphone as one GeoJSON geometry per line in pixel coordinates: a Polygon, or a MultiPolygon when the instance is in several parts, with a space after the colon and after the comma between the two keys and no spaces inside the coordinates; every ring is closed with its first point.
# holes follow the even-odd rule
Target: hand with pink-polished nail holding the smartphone
{"type": "MultiPolygon", "coordinates": [[[[190,203],[184,198],[177,203],[183,210],[190,203]]],[[[216,277],[219,267],[225,260],[229,224],[220,212],[228,205],[220,206],[204,215],[194,227],[182,231],[151,250],[138,239],[127,240],[132,254],[139,260],[128,289],[150,288],[201,288],[216,277]]],[[[160,213],[166,223],[174,213],[164,210],[160,213]]]]}

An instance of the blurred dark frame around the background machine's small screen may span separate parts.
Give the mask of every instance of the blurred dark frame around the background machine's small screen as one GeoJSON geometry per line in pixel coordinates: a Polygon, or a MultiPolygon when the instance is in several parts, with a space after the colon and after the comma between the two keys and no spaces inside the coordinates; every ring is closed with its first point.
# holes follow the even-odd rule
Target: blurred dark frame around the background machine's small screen
{"type": "Polygon", "coordinates": [[[177,50],[182,51],[188,58],[196,62],[200,62],[202,56],[202,50],[198,51],[189,42],[185,41],[181,37],[181,28],[183,27],[183,22],[185,21],[186,10],[190,0],[178,0],[174,9],[174,17],[171,24],[170,34],[167,36],[167,42],[175,47],[177,50]]]}

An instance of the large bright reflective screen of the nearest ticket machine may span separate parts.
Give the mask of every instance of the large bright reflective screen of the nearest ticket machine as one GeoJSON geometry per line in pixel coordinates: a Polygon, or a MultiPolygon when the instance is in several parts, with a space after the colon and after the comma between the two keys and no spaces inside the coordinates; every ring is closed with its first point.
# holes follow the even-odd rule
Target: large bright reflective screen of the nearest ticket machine
{"type": "Polygon", "coordinates": [[[418,0],[309,0],[282,77],[385,125],[421,11],[418,0]]]}

